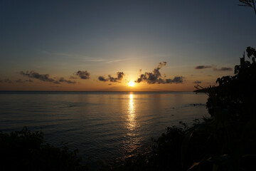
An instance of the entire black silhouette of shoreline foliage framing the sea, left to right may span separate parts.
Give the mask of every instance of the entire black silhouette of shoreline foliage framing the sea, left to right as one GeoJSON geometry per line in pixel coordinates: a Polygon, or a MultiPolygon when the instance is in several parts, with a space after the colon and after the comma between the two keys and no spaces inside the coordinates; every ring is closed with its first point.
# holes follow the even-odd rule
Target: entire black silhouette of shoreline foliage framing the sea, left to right
{"type": "MultiPolygon", "coordinates": [[[[186,123],[166,128],[154,140],[150,152],[129,157],[96,170],[254,170],[256,167],[256,51],[247,48],[235,66],[235,76],[216,81],[219,86],[201,88],[208,94],[210,118],[190,128],[186,123]]],[[[80,164],[76,151],[43,142],[43,134],[0,134],[0,170],[95,170],[80,164]]]]}

